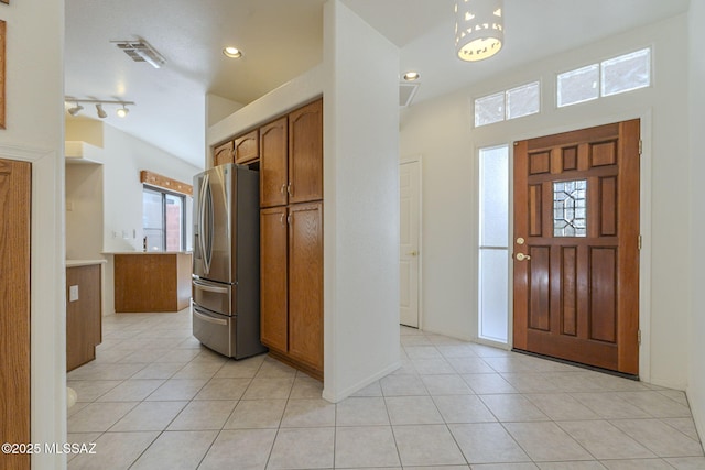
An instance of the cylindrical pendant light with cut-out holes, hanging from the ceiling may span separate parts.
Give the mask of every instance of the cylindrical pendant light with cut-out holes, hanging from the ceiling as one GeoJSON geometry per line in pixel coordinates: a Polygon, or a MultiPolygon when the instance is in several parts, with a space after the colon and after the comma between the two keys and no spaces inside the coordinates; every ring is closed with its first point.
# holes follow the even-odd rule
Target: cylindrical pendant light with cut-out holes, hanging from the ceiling
{"type": "Polygon", "coordinates": [[[468,62],[482,61],[502,48],[502,0],[456,0],[455,52],[468,62]]]}

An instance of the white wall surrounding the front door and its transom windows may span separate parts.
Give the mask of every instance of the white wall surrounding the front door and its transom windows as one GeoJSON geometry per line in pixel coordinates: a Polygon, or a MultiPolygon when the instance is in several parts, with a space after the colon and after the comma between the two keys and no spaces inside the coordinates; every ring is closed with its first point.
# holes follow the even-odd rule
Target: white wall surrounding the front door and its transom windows
{"type": "MultiPolygon", "coordinates": [[[[402,155],[423,154],[424,328],[477,335],[477,176],[481,146],[631,118],[642,119],[641,375],[684,390],[691,269],[687,184],[687,18],[666,20],[536,62],[471,88],[412,106],[402,116],[402,155]],[[653,86],[555,107],[555,74],[653,46],[653,86]],[[474,129],[474,98],[542,81],[542,112],[474,129]],[[651,177],[653,175],[653,178],[651,177]]],[[[471,66],[468,64],[468,66],[471,66]]]]}

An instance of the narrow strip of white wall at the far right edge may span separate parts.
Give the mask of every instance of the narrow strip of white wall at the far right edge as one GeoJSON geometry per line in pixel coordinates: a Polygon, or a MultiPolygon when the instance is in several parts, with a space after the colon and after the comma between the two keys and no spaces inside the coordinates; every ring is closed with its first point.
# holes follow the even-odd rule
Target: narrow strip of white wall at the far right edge
{"type": "Polygon", "coordinates": [[[705,2],[692,1],[690,11],[690,64],[691,64],[691,369],[688,374],[687,397],[701,438],[705,438],[705,298],[702,287],[705,286],[703,264],[703,247],[701,240],[705,233],[705,210],[701,188],[705,176],[705,152],[699,140],[705,129],[705,2]],[[696,47],[695,45],[701,45],[696,47]]]}

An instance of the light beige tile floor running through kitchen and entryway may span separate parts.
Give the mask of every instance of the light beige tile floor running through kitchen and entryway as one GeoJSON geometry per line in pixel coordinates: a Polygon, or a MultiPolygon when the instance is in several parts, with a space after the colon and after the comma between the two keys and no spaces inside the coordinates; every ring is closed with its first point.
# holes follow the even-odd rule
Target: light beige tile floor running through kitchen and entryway
{"type": "Polygon", "coordinates": [[[705,469],[683,392],[404,328],[402,368],[338,404],[267,356],[223,358],[188,310],[104,319],[72,371],[78,469],[705,469]]]}

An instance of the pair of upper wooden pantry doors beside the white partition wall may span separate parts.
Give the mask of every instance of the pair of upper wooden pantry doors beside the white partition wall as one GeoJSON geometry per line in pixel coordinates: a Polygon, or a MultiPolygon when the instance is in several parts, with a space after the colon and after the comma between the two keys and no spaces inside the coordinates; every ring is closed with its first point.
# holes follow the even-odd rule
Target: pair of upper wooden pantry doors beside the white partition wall
{"type": "Polygon", "coordinates": [[[323,199],[323,101],[260,129],[260,206],[323,199]]]}

